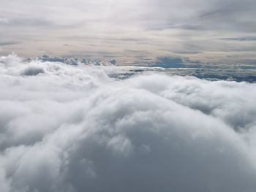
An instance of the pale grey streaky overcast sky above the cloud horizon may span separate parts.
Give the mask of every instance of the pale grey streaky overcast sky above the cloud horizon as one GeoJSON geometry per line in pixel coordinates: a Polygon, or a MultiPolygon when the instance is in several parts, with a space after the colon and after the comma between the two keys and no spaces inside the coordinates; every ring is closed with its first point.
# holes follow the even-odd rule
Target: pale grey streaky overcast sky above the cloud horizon
{"type": "Polygon", "coordinates": [[[1,0],[0,55],[252,64],[255,0],[1,0]]]}

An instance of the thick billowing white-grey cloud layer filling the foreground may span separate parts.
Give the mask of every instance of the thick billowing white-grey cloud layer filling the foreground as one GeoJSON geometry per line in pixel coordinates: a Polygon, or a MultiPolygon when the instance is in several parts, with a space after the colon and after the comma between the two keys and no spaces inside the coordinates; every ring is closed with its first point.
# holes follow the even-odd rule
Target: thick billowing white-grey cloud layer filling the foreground
{"type": "Polygon", "coordinates": [[[256,189],[256,85],[0,58],[0,188],[256,189]]]}

